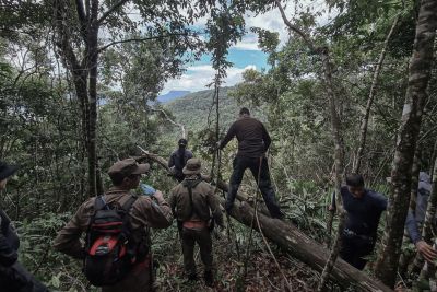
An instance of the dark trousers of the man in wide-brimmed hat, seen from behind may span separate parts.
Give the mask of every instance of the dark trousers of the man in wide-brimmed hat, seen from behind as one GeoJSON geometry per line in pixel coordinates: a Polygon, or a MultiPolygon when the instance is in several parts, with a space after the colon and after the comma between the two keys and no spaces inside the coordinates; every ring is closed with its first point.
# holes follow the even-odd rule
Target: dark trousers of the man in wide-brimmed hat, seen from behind
{"type": "Polygon", "coordinates": [[[200,247],[200,258],[204,265],[205,271],[212,270],[212,241],[211,233],[205,229],[193,230],[182,229],[182,253],[184,253],[184,267],[185,271],[189,276],[196,275],[196,261],[194,261],[194,244],[198,243],[200,247]]]}

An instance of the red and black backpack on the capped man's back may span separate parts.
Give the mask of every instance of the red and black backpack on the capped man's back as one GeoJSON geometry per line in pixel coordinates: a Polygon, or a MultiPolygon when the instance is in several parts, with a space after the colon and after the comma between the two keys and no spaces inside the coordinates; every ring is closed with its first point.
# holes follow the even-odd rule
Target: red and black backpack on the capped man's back
{"type": "Polygon", "coordinates": [[[104,196],[95,199],[94,214],[86,232],[83,267],[93,285],[115,284],[132,269],[137,244],[131,234],[129,211],[137,198],[131,195],[121,207],[117,202],[108,205],[104,196]]]}

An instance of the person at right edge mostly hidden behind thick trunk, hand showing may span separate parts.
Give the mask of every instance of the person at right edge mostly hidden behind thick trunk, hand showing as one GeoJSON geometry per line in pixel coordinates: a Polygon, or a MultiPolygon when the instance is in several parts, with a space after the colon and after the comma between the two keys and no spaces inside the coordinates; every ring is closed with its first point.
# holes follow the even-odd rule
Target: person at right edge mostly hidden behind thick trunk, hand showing
{"type": "MultiPolygon", "coordinates": [[[[429,175],[425,172],[418,174],[418,187],[417,187],[417,199],[416,209],[409,210],[405,221],[406,232],[415,245],[417,252],[427,260],[433,262],[437,258],[437,252],[427,244],[421,235],[418,225],[425,221],[426,208],[428,206],[429,194],[432,192],[432,184],[429,175]]],[[[436,222],[436,219],[434,219],[436,222]]]]}

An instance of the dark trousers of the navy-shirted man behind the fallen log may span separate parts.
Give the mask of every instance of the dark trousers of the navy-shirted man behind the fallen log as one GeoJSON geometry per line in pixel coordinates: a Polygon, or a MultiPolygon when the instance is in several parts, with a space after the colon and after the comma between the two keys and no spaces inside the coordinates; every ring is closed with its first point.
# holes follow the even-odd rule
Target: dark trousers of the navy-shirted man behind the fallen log
{"type": "Polygon", "coordinates": [[[371,240],[343,235],[340,257],[351,266],[363,270],[367,262],[364,257],[370,255],[374,247],[375,244],[371,240]]]}

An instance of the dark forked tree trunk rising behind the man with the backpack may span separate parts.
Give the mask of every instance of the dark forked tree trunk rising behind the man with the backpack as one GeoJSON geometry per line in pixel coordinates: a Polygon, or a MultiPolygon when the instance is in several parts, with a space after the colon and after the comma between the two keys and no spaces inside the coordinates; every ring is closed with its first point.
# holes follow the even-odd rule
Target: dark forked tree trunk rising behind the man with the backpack
{"type": "MultiPolygon", "coordinates": [[[[78,1],[76,3],[81,3],[78,1]]],[[[76,97],[80,102],[82,114],[83,141],[87,152],[88,164],[88,196],[94,197],[103,191],[102,178],[99,177],[97,152],[96,152],[96,127],[97,127],[97,60],[98,60],[98,0],[92,0],[86,5],[76,5],[78,20],[81,23],[83,40],[83,59],[79,61],[79,54],[73,49],[70,34],[71,9],[68,1],[56,0],[54,3],[56,12],[57,46],[67,63],[67,68],[73,77],[76,97]],[[90,15],[88,19],[84,14],[90,15]]]]}

